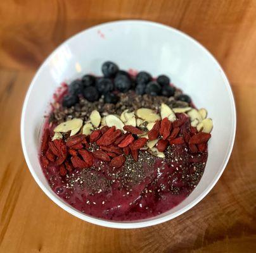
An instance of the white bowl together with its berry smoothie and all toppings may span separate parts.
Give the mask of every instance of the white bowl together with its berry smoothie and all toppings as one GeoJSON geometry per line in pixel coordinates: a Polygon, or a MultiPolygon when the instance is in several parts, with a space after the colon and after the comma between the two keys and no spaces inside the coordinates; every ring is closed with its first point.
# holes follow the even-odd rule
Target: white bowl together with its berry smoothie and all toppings
{"type": "Polygon", "coordinates": [[[32,80],[21,123],[42,190],[113,228],[195,206],[221,176],[235,128],[233,94],[213,56],[143,21],[98,25],[61,44],[32,80]]]}

